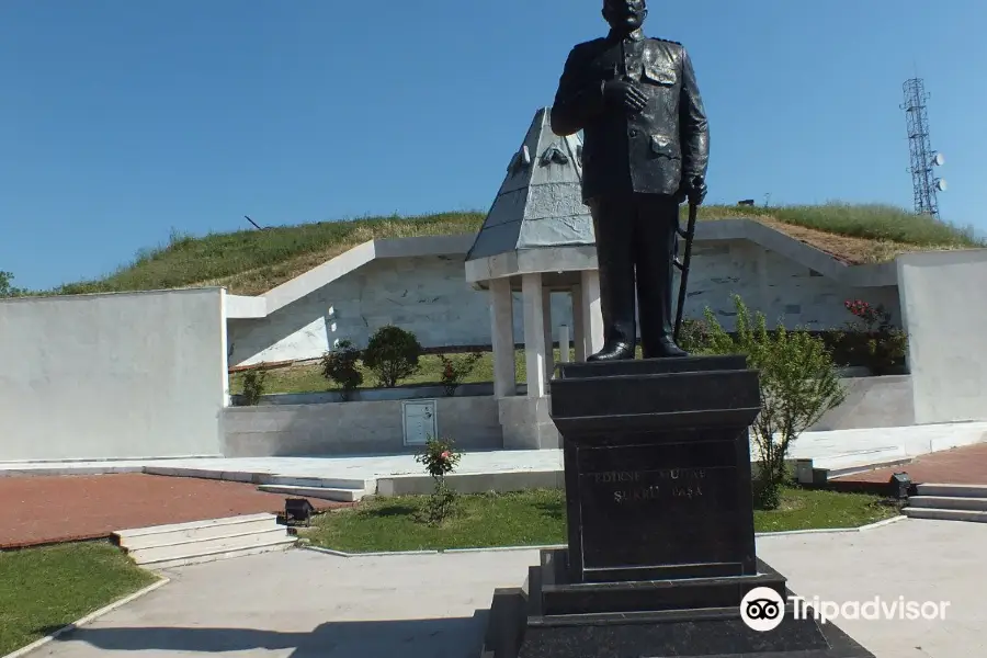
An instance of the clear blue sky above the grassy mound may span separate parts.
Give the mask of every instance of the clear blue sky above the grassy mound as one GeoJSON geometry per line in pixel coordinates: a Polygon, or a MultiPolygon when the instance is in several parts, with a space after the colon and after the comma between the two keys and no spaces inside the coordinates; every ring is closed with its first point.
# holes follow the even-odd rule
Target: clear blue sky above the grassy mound
{"type": "MultiPolygon", "coordinates": [[[[0,270],[46,288],[202,235],[486,209],[600,0],[3,0],[0,270]]],[[[987,229],[983,0],[651,0],[711,121],[708,202],[911,206],[926,79],[944,219],[987,229]],[[978,158],[980,156],[980,158],[978,158]]]]}

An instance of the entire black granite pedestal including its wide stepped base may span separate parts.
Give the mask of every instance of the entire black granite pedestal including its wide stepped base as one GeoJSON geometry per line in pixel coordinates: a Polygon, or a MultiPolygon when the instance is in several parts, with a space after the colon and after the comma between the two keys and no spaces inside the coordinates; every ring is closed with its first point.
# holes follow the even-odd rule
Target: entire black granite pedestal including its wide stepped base
{"type": "Polygon", "coordinates": [[[481,658],[873,658],[795,619],[785,578],[757,558],[759,409],[744,356],[560,365],[568,548],[495,591],[481,658]],[[741,617],[756,588],[787,601],[771,631],[741,617]]]}

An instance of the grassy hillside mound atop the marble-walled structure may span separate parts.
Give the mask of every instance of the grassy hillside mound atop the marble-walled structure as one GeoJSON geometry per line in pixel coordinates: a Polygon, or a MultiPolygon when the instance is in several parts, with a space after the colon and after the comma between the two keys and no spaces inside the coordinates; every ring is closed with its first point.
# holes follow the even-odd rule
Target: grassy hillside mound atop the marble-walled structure
{"type": "MultiPolygon", "coordinates": [[[[683,206],[683,218],[685,206],[683,206]]],[[[747,217],[831,253],[847,263],[883,262],[904,251],[984,247],[969,229],[884,205],[832,203],[758,208],[704,206],[700,219],[747,217]]],[[[172,235],[168,245],[138,253],[134,262],[98,281],[45,294],[147,291],[224,285],[257,295],[371,239],[476,232],[483,213],[372,217],[264,230],[172,235]]]]}

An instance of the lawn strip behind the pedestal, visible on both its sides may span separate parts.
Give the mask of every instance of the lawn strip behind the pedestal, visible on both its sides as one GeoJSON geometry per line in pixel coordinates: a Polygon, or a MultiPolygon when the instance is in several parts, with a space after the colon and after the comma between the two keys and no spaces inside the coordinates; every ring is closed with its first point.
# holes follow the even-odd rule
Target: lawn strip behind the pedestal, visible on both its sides
{"type": "MultiPolygon", "coordinates": [[[[461,496],[456,514],[439,527],[419,520],[423,496],[367,500],[316,518],[303,531],[313,545],[347,553],[533,546],[566,543],[565,494],[535,490],[461,496]]],[[[786,489],[781,509],[756,511],[758,532],[855,527],[897,513],[860,494],[786,489]]]]}

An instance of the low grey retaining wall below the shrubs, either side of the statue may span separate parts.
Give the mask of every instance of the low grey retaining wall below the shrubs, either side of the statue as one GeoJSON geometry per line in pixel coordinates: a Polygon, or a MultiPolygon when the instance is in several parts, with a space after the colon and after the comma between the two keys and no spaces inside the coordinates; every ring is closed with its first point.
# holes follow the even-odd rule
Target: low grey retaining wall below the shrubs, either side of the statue
{"type": "MultiPolygon", "coordinates": [[[[912,424],[907,375],[850,377],[843,384],[849,389],[847,401],[809,431],[912,424]]],[[[225,410],[225,454],[257,457],[415,452],[418,449],[404,445],[401,400],[423,398],[435,399],[440,435],[455,440],[462,449],[557,447],[558,433],[547,416],[548,398],[540,400],[541,407],[532,407],[535,401],[523,396],[503,398],[498,404],[489,387],[464,386],[456,397],[441,397],[441,387],[367,390],[367,396],[389,394],[394,399],[319,404],[336,395],[332,393],[269,396],[265,405],[225,410]],[[282,397],[288,399],[270,399],[282,397]]]]}

